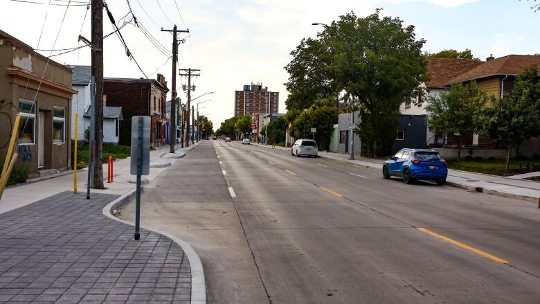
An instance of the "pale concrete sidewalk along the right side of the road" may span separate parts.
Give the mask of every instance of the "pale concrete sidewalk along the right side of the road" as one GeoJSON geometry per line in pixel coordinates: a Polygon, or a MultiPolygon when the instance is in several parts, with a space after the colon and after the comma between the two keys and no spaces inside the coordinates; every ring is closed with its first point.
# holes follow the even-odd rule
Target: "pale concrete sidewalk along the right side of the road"
{"type": "MultiPolygon", "coordinates": [[[[264,146],[256,143],[255,146],[286,151],[291,150],[287,147],[272,147],[271,145],[264,146]]],[[[334,152],[318,152],[318,155],[319,157],[323,157],[325,159],[333,159],[335,161],[351,163],[356,166],[381,170],[382,172],[383,161],[379,159],[355,157],[354,160],[350,160],[349,154],[339,154],[334,152]]],[[[496,175],[485,175],[481,173],[449,169],[447,185],[487,193],[490,195],[524,199],[526,201],[538,204],[540,208],[540,182],[538,181],[512,179],[511,177],[499,177],[496,175]]]]}

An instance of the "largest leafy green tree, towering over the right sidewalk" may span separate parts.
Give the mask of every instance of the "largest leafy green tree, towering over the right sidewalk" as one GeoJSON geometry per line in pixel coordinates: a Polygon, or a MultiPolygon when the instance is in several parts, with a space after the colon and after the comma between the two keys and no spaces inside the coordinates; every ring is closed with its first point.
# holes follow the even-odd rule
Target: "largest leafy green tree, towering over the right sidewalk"
{"type": "Polygon", "coordinates": [[[401,19],[380,17],[379,12],[365,18],[354,12],[340,16],[318,33],[318,39],[303,39],[285,67],[291,92],[287,109],[305,109],[315,100],[339,92],[352,96],[369,116],[369,125],[360,126],[365,129],[361,134],[368,129],[375,132],[369,142],[363,137],[363,145],[371,145],[375,153],[390,148],[380,140],[379,132],[395,134],[397,127],[397,120],[381,116],[394,115],[404,100],[419,93],[420,83],[428,80],[424,39],[416,40],[414,26],[405,27],[401,19]],[[380,125],[388,122],[393,125],[380,125]]]}

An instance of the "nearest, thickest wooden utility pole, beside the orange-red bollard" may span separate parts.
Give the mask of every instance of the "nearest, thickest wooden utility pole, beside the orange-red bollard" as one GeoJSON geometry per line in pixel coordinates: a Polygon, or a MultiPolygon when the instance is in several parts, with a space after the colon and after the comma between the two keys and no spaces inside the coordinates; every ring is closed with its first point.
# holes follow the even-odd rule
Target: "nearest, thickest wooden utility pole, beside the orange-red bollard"
{"type": "MultiPolygon", "coordinates": [[[[92,188],[103,189],[103,1],[92,0],[92,76],[95,81],[93,100],[93,182],[92,188]]],[[[92,126],[91,126],[92,127],[92,126]]]]}

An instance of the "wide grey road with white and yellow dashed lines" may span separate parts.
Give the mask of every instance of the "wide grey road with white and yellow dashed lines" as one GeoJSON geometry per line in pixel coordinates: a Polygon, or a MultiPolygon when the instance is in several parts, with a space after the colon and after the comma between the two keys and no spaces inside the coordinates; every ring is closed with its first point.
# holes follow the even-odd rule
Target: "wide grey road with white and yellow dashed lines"
{"type": "Polygon", "coordinates": [[[224,141],[152,184],[143,223],[192,244],[209,303],[540,303],[530,202],[224,141]]]}

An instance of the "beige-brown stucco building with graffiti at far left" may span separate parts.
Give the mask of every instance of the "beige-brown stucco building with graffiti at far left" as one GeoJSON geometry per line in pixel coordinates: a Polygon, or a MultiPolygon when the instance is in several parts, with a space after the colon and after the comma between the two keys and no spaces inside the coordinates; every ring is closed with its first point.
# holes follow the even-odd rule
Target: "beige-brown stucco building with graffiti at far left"
{"type": "Polygon", "coordinates": [[[17,164],[29,177],[71,164],[71,69],[0,30],[0,158],[6,157],[15,116],[17,164]]]}

